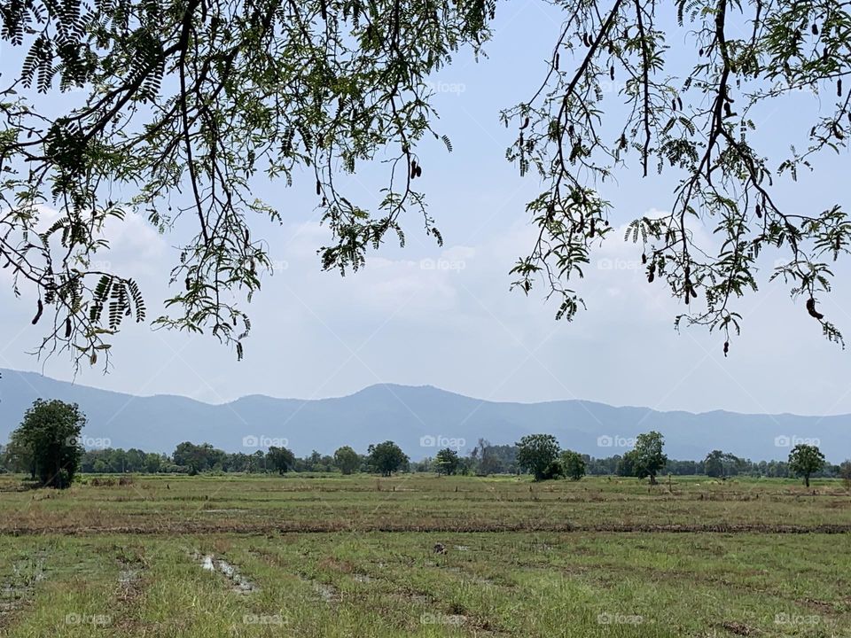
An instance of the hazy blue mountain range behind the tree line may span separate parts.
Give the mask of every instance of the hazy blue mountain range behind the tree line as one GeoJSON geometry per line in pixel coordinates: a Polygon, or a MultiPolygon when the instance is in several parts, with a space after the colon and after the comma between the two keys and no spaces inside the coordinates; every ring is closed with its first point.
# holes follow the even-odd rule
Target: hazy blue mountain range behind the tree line
{"type": "Polygon", "coordinates": [[[722,449],[753,460],[785,459],[799,440],[817,440],[828,460],[851,456],[851,415],[743,415],[715,411],[657,412],[591,401],[503,403],[480,401],[426,385],[371,385],[335,399],[302,401],[246,396],[209,405],[179,396],[137,397],[69,384],[32,372],[0,370],[0,442],[36,398],[74,401],[89,416],[86,441],[112,447],[171,452],[177,443],[207,441],[228,451],[256,451],[284,443],[297,455],[331,454],[350,445],[394,440],[413,459],[440,447],[466,451],[482,437],[513,443],[546,432],[562,447],[593,456],[622,454],[640,432],[665,435],[668,456],[700,459],[722,449]],[[277,441],[275,441],[277,440],[277,441]],[[256,446],[256,447],[255,447],[256,446]]]}

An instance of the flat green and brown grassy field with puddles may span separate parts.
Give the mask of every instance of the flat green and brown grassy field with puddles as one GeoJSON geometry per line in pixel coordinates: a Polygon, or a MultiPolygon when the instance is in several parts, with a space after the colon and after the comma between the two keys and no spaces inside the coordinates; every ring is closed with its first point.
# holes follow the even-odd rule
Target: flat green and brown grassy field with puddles
{"type": "Polygon", "coordinates": [[[0,534],[0,636],[851,638],[839,481],[0,477],[0,534]]]}

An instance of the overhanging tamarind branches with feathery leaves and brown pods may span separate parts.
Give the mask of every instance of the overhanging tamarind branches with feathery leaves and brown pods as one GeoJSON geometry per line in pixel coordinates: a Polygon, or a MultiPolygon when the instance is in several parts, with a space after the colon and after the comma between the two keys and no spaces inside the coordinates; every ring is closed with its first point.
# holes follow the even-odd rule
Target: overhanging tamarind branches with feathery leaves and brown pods
{"type": "MultiPolygon", "coordinates": [[[[527,204],[538,232],[511,270],[514,287],[543,285],[556,316],[574,317],[584,305],[574,281],[615,231],[608,184],[621,170],[670,172],[669,206],[636,217],[627,238],[647,282],[681,300],[678,323],[722,331],[726,354],[742,321],[737,300],[757,290],[770,248],[785,257],[769,277],[841,340],[818,298],[851,245],[851,222],[841,201],[792,209],[777,187],[847,147],[851,7],[558,7],[564,23],[540,85],[506,96],[519,104],[500,116],[507,159],[542,184],[527,204]],[[783,127],[760,115],[790,104],[796,116],[783,127]],[[717,240],[694,232],[701,222],[717,240]]],[[[428,82],[459,49],[480,50],[496,11],[495,0],[0,0],[2,46],[23,60],[0,85],[0,258],[44,326],[42,347],[95,363],[126,317],[146,320],[137,283],[99,254],[105,222],[137,212],[162,231],[178,221],[195,230],[176,251],[177,285],[155,322],[207,328],[241,356],[250,323],[227,292],[250,299],[260,287],[271,262],[253,230],[262,217],[280,220],[252,196],[258,172],[315,185],[331,236],[322,268],[355,270],[388,237],[402,243],[406,211],[440,242],[418,190],[438,159],[420,142],[452,144],[428,82]],[[56,97],[72,90],[74,99],[56,97]],[[379,162],[380,192],[336,179],[379,162]],[[59,209],[51,223],[45,204],[59,209]]]]}

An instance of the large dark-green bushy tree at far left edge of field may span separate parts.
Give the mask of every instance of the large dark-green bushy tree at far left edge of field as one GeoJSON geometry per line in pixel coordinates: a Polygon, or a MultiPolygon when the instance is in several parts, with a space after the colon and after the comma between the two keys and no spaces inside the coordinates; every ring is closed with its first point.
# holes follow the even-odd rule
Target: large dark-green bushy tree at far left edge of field
{"type": "Polygon", "coordinates": [[[16,446],[27,450],[31,470],[43,486],[71,485],[82,459],[80,432],[86,424],[76,403],[36,399],[13,432],[16,446]]]}

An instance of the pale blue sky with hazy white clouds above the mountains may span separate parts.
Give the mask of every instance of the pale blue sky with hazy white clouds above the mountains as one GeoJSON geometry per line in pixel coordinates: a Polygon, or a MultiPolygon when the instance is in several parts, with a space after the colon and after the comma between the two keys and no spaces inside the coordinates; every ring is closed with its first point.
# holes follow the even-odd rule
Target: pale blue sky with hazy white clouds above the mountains
{"type": "MultiPolygon", "coordinates": [[[[419,155],[429,211],[445,240],[441,248],[422,231],[417,214],[403,219],[408,245],[391,243],[371,253],[366,268],[340,277],[322,272],[316,249],[330,232],[314,210],[313,178],[255,181],[255,194],[282,213],[280,225],[259,222],[275,272],[248,307],[253,331],[245,359],[210,336],[153,331],[128,325],[114,340],[113,367],[84,369],[74,377],[66,358],[38,360],[31,352],[41,333],[29,325],[32,299],[16,300],[8,271],[0,270],[0,367],[140,395],[173,393],[222,403],[247,394],[322,398],[354,393],[376,383],[435,385],[492,401],[586,399],[613,405],[709,411],[827,415],[851,413],[851,353],[827,342],[803,301],[792,302],[783,284],[769,284],[738,304],[743,332],[722,354],[723,338],[700,328],[674,329],[683,311],[659,284],[647,284],[641,248],[622,241],[623,228],[672,203],[668,177],[641,179],[632,164],[601,186],[613,203],[619,232],[592,256],[577,290],[588,303],[573,323],[556,322],[557,305],[533,292],[510,292],[513,262],[532,245],[535,229],[525,212],[540,184],[521,178],[504,159],[515,135],[498,121],[501,108],[530,97],[545,74],[560,27],[558,13],[541,2],[498,7],[488,57],[459,54],[433,78],[441,133],[449,153],[426,141],[419,155]]],[[[688,35],[669,44],[688,50],[688,35]]],[[[673,56],[676,59],[676,56],[673,56]]],[[[0,69],[9,71],[9,58],[0,69]]],[[[799,125],[817,97],[796,95],[765,113],[767,152],[783,150],[778,131],[799,125]]],[[[791,208],[821,210],[847,198],[847,152],[826,157],[798,183],[781,181],[777,193],[791,208]]],[[[350,192],[374,197],[366,169],[342,178],[350,192]]],[[[846,203],[847,202],[842,202],[846,203]]],[[[711,230],[703,232],[712,241],[711,230]]],[[[181,230],[162,236],[139,217],[108,230],[108,266],[142,285],[149,315],[168,296],[168,270],[181,230]]],[[[770,267],[770,257],[767,266],[770,267]]],[[[847,263],[835,268],[825,315],[851,336],[847,263]]],[[[0,381],[2,383],[2,381],[0,381]]]]}

